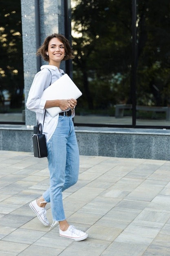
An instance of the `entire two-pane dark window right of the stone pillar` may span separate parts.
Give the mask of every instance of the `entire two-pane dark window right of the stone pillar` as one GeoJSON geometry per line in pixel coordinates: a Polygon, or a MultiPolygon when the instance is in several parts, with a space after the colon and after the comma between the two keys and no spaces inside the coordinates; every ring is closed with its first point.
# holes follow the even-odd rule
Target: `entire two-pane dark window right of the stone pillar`
{"type": "Polygon", "coordinates": [[[170,4],[168,0],[137,2],[134,57],[135,2],[71,1],[73,80],[83,93],[76,107],[77,125],[170,125],[170,4]],[[135,91],[133,58],[137,60],[135,91]]]}

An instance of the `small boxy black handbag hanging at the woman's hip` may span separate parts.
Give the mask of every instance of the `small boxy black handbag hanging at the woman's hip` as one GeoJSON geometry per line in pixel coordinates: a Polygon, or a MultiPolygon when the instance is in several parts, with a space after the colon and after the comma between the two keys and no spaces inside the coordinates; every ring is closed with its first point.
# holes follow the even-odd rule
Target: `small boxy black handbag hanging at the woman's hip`
{"type": "MultiPolygon", "coordinates": [[[[46,111],[45,111],[46,112],[46,111]]],[[[45,119],[45,114],[44,114],[44,119],[45,119]]],[[[44,122],[43,122],[44,126],[44,122]]],[[[46,148],[46,138],[45,135],[42,134],[42,128],[43,126],[38,123],[38,133],[32,135],[33,139],[33,151],[34,151],[34,156],[35,157],[47,157],[47,148],[46,148]]]]}

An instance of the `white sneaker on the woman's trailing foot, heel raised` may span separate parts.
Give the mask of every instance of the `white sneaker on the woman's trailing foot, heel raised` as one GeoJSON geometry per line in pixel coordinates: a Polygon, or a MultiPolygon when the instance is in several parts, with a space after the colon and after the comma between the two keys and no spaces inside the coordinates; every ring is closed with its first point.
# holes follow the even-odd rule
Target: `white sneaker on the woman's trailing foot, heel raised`
{"type": "Polygon", "coordinates": [[[42,224],[44,226],[49,226],[49,221],[46,218],[46,209],[43,207],[38,206],[36,200],[34,200],[33,202],[31,202],[29,204],[29,206],[31,207],[31,209],[37,214],[39,220],[42,222],[42,224]]]}

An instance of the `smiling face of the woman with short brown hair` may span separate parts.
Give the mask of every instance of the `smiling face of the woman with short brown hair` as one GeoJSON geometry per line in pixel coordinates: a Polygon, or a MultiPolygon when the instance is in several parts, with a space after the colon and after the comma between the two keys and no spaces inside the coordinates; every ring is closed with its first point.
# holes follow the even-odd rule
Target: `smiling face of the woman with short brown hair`
{"type": "Polygon", "coordinates": [[[64,59],[65,49],[64,44],[56,37],[49,41],[48,46],[49,65],[60,65],[60,62],[64,59]]]}

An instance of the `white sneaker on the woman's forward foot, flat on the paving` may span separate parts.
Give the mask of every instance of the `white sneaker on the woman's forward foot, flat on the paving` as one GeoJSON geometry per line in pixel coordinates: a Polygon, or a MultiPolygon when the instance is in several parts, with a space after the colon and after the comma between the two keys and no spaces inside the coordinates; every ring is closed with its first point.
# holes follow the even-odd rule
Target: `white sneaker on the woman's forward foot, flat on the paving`
{"type": "Polygon", "coordinates": [[[88,234],[85,232],[75,229],[74,226],[69,226],[66,231],[59,230],[60,237],[62,238],[68,238],[75,241],[82,241],[88,237],[88,234]]]}

